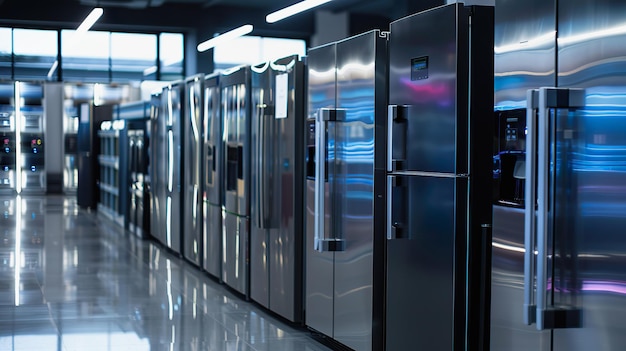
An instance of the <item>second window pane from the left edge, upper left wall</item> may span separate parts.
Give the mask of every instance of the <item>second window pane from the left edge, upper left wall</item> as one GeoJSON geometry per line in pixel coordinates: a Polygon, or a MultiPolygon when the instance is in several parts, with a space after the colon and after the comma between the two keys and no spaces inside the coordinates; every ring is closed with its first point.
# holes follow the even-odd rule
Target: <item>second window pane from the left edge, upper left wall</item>
{"type": "MultiPolygon", "coordinates": [[[[13,29],[13,79],[47,79],[57,59],[57,31],[13,29]]],[[[54,79],[56,75],[51,77],[54,79]]]]}

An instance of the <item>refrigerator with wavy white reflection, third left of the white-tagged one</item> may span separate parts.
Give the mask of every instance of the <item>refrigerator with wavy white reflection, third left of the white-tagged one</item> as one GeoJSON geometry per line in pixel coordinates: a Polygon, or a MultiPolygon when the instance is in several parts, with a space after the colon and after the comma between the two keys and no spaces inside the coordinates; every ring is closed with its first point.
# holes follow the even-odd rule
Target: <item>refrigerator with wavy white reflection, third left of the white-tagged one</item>
{"type": "Polygon", "coordinates": [[[183,164],[185,165],[184,215],[181,236],[183,237],[183,256],[194,265],[202,265],[202,150],[204,140],[202,134],[204,75],[196,75],[185,81],[184,117],[182,119],[185,137],[183,148],[183,164]]]}

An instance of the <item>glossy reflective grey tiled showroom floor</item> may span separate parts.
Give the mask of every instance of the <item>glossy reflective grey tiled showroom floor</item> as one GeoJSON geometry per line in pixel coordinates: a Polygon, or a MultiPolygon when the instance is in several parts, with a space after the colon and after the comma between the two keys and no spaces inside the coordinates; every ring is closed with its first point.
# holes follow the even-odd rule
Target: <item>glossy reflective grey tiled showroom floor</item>
{"type": "Polygon", "coordinates": [[[0,198],[0,250],[2,351],[328,350],[71,198],[0,198]]]}

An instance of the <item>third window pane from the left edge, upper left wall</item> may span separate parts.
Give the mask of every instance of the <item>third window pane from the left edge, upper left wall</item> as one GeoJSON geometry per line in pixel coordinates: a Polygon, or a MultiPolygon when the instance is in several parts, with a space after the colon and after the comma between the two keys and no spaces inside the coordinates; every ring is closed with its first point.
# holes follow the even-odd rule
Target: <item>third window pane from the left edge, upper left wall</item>
{"type": "Polygon", "coordinates": [[[76,36],[61,31],[63,80],[102,82],[109,80],[110,33],[89,31],[76,36]]]}

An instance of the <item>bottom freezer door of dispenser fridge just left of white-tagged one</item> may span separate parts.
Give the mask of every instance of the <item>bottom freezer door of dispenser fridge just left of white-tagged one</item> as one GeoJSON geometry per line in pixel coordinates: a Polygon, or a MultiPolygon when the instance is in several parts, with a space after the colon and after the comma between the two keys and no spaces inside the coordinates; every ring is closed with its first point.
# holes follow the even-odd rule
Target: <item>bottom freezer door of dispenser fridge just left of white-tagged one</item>
{"type": "Polygon", "coordinates": [[[232,213],[224,212],[223,216],[222,278],[226,285],[248,296],[250,223],[232,213]]]}

